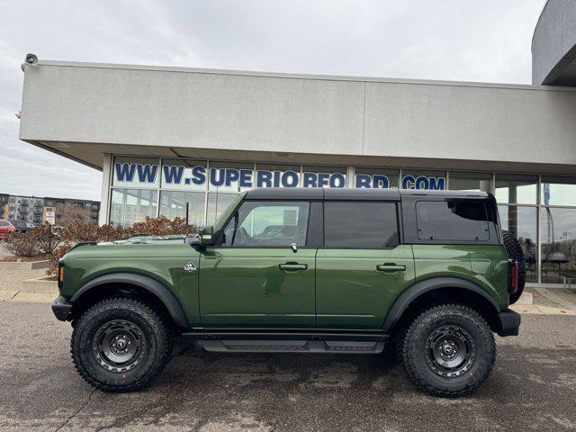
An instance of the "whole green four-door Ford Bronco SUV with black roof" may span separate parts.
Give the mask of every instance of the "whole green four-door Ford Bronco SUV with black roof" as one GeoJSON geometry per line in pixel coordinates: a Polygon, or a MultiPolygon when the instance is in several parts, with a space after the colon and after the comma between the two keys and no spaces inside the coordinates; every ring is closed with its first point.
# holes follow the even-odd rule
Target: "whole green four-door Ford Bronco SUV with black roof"
{"type": "Polygon", "coordinates": [[[391,344],[421,391],[454,397],[491,373],[493,333],[518,335],[524,275],[488,193],[254,189],[199,236],[77,245],[52,310],[107,392],[147,385],[177,335],[228,353],[391,344]]]}

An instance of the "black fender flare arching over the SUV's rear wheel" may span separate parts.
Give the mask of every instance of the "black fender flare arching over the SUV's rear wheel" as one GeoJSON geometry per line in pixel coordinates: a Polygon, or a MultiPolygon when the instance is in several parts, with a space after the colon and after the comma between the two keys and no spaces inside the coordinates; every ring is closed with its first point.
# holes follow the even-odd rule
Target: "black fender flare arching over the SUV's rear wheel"
{"type": "Polygon", "coordinates": [[[383,329],[393,329],[398,320],[401,319],[402,313],[404,313],[404,311],[406,311],[406,309],[410,306],[410,303],[414,302],[417,298],[419,298],[420,295],[440,288],[461,288],[476,294],[480,294],[484,299],[491,303],[496,313],[500,312],[498,303],[477,284],[473,284],[470,281],[459,279],[457,277],[435,277],[413,284],[409,289],[401,293],[401,295],[392,305],[392,309],[386,316],[383,329]]]}

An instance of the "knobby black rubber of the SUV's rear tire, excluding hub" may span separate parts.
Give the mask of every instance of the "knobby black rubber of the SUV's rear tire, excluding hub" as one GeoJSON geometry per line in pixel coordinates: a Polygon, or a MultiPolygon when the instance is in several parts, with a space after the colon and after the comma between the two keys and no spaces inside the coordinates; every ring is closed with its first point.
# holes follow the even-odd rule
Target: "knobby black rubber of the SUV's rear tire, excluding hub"
{"type": "Polygon", "coordinates": [[[433,396],[455,398],[475,391],[490,375],[495,360],[496,343],[490,326],[476,311],[458,303],[440,304],[420,313],[402,344],[402,364],[410,381],[433,396]],[[442,376],[445,372],[438,371],[441,367],[434,370],[428,341],[443,329],[460,329],[470,338],[468,352],[474,353],[473,362],[466,361],[469,368],[462,374],[442,376]]]}

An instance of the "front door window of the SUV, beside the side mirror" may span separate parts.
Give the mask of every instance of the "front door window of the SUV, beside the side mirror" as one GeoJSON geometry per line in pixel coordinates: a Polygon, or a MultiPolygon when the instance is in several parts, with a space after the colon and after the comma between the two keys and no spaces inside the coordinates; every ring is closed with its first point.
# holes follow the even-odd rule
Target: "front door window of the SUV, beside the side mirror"
{"type": "Polygon", "coordinates": [[[310,202],[244,202],[224,229],[223,246],[305,246],[310,202]]]}

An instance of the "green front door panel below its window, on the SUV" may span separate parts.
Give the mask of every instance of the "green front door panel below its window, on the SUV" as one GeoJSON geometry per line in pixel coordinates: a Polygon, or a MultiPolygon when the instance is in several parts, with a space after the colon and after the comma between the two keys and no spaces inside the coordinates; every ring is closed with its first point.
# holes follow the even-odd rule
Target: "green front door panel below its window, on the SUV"
{"type": "Polygon", "coordinates": [[[206,328],[313,328],[316,249],[213,247],[200,260],[206,328]],[[279,266],[306,266],[282,270],[279,266]]]}

